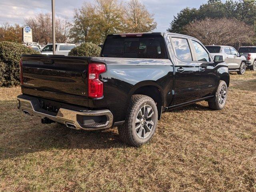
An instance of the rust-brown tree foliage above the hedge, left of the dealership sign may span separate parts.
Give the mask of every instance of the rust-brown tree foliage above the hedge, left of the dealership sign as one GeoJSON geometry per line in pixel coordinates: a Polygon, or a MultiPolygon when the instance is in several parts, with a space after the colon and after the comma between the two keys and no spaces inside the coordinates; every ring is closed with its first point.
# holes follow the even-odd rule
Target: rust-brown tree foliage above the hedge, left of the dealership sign
{"type": "Polygon", "coordinates": [[[0,26],[0,41],[22,42],[22,27],[8,22],[0,26]]]}

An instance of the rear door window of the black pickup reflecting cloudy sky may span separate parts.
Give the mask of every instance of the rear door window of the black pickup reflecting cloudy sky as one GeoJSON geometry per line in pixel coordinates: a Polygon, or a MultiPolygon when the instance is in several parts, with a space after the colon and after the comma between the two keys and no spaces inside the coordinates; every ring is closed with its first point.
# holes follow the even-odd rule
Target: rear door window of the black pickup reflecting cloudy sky
{"type": "Polygon", "coordinates": [[[187,39],[173,37],[172,42],[178,59],[183,61],[192,61],[192,54],[187,39]]]}

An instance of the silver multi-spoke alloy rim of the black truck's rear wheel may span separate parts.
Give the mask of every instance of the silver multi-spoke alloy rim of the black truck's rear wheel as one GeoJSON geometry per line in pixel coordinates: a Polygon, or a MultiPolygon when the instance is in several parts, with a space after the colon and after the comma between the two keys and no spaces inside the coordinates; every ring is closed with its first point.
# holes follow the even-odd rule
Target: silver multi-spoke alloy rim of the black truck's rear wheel
{"type": "Polygon", "coordinates": [[[139,138],[147,138],[154,126],[154,111],[149,105],[144,105],[140,108],[135,122],[135,131],[139,138]]]}

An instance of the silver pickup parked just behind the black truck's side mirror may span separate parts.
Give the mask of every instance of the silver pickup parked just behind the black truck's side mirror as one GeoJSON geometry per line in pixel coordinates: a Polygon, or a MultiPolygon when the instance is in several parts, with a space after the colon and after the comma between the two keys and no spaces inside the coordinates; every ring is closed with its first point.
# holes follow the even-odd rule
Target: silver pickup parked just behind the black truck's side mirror
{"type": "Polygon", "coordinates": [[[228,64],[228,70],[230,72],[236,71],[242,75],[246,70],[246,58],[240,55],[234,47],[230,46],[205,46],[212,56],[222,55],[226,64],[228,64]]]}

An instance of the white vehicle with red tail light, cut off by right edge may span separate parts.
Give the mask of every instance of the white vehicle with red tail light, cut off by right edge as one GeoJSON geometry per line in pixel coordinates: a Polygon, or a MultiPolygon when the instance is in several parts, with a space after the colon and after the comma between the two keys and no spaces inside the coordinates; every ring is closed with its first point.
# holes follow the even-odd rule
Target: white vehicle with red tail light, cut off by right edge
{"type": "Polygon", "coordinates": [[[246,65],[256,71],[256,46],[240,47],[238,52],[246,57],[246,65]]]}

